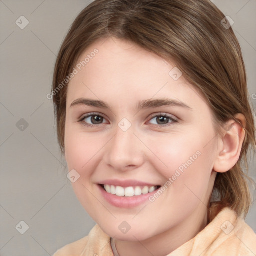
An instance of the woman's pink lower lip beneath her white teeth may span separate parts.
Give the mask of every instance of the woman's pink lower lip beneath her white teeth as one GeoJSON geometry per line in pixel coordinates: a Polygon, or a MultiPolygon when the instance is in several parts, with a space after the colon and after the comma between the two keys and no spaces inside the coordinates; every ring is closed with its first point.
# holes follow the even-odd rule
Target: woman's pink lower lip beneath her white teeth
{"type": "Polygon", "coordinates": [[[118,208],[132,208],[141,205],[145,201],[149,200],[148,198],[159,189],[158,188],[153,192],[147,194],[134,196],[118,196],[108,193],[101,185],[98,185],[98,187],[106,201],[118,208]]]}

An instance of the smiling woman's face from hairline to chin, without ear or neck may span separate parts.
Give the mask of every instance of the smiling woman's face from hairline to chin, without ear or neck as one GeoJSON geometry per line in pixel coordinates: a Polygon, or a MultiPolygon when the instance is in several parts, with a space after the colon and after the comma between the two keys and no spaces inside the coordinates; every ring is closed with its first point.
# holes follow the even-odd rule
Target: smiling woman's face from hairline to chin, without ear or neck
{"type": "Polygon", "coordinates": [[[198,231],[217,154],[202,96],[175,63],[113,37],[88,47],[72,76],[65,158],[85,210],[120,240],[198,231]]]}

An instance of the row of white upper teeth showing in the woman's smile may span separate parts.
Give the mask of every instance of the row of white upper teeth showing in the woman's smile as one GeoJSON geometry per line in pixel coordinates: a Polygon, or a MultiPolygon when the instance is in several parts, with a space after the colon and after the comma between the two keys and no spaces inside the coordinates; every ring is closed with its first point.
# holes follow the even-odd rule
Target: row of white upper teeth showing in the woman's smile
{"type": "Polygon", "coordinates": [[[114,186],[114,185],[104,185],[105,190],[108,193],[115,194],[117,196],[134,196],[134,195],[141,195],[151,193],[156,190],[156,186],[144,186],[142,189],[140,186],[136,187],[122,187],[122,186],[114,186]]]}

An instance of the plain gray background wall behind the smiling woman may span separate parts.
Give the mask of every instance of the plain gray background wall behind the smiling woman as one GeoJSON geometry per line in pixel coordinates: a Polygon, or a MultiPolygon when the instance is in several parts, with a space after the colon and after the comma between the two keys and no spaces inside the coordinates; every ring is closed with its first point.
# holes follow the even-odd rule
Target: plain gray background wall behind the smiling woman
{"type": "MultiPolygon", "coordinates": [[[[66,178],[68,170],[57,145],[53,105],[46,98],[60,44],[74,18],[89,2],[0,1],[2,256],[52,255],[63,245],[87,235],[95,224],[66,178]],[[15,23],[21,15],[29,21],[24,29],[15,23]],[[21,220],[29,226],[24,234],[18,232],[24,231],[24,224],[15,228],[21,220]]],[[[213,2],[234,20],[232,27],[242,47],[255,108],[256,0],[213,2]]],[[[250,175],[255,179],[253,166],[255,161],[250,164],[250,175]]],[[[254,201],[246,218],[254,231],[255,216],[254,201]]]]}

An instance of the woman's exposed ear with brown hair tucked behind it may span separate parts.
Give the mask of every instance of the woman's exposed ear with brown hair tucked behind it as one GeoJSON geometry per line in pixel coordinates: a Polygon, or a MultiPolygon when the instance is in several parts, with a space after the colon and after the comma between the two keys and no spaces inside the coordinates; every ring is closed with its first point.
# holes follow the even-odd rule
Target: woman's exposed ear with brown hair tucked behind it
{"type": "MultiPolygon", "coordinates": [[[[234,117],[245,127],[246,119],[243,114],[238,113],[234,117]]],[[[218,152],[213,166],[214,171],[226,172],[238,161],[245,137],[245,130],[242,126],[233,119],[225,123],[226,128],[218,140],[218,152]]]]}

